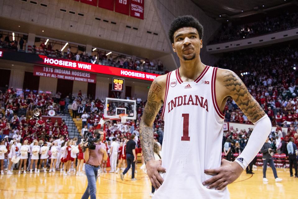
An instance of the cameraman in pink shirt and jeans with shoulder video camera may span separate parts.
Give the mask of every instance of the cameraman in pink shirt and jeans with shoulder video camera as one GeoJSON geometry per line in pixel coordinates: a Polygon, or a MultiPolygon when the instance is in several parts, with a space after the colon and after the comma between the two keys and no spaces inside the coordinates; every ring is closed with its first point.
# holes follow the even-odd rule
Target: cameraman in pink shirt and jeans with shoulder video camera
{"type": "Polygon", "coordinates": [[[85,132],[84,140],[87,142],[84,144],[84,160],[85,173],[88,180],[88,186],[82,199],[96,198],[96,181],[97,181],[97,170],[103,160],[108,159],[106,146],[101,142],[103,140],[103,132],[98,129],[94,131],[94,138],[91,138],[92,134],[85,132]],[[89,135],[88,135],[89,134],[89,135]]]}

